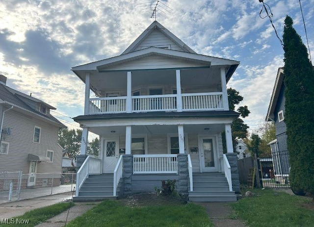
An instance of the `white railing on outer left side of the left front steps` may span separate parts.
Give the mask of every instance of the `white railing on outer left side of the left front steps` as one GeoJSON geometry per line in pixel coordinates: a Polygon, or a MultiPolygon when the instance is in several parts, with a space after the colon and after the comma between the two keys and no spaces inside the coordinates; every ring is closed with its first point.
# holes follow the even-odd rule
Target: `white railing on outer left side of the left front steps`
{"type": "Polygon", "coordinates": [[[101,159],[93,156],[87,156],[77,173],[75,196],[78,196],[80,187],[83,185],[85,179],[88,178],[90,174],[100,173],[101,173],[101,159]]]}

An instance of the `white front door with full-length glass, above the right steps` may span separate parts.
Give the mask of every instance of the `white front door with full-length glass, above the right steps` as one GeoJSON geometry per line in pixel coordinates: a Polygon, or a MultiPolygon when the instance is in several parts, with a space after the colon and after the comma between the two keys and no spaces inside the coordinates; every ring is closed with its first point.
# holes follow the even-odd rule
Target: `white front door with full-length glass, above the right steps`
{"type": "Polygon", "coordinates": [[[217,172],[218,160],[213,137],[199,138],[201,172],[217,172]]]}

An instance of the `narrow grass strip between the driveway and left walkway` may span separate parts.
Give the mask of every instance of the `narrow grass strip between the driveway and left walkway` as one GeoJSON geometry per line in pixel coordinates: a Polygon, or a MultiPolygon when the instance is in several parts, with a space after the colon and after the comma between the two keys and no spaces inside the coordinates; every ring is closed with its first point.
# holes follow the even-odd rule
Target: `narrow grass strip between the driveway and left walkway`
{"type": "MultiPolygon", "coordinates": [[[[71,203],[71,206],[74,204],[71,203]]],[[[37,208],[31,211],[27,211],[24,215],[13,217],[14,223],[12,224],[1,224],[0,227],[14,226],[14,227],[34,227],[40,223],[45,222],[46,220],[52,218],[53,216],[62,213],[63,211],[69,208],[69,202],[59,202],[50,206],[37,208]],[[24,223],[18,224],[16,220],[25,220],[24,223]]],[[[11,218],[8,219],[8,222],[11,222],[11,218]]]]}

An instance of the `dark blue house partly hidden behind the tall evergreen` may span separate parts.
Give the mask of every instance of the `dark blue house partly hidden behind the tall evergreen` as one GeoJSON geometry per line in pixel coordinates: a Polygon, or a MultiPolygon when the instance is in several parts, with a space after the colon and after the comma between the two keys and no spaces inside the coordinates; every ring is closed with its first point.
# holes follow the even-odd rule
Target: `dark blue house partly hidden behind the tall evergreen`
{"type": "Polygon", "coordinates": [[[279,68],[273,93],[271,95],[266,121],[273,121],[276,139],[270,141],[274,175],[277,181],[286,181],[289,177],[289,156],[287,148],[287,128],[285,123],[285,83],[284,68],[279,68]]]}

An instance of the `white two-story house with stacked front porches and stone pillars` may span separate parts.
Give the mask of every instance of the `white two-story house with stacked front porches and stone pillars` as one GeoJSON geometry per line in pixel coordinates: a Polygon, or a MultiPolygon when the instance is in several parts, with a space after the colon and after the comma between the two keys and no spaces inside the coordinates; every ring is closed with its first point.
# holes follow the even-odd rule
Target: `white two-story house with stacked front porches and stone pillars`
{"type": "Polygon", "coordinates": [[[192,201],[234,201],[238,113],[229,110],[226,84],[238,65],[197,54],[155,21],[121,55],[73,67],[85,83],[84,114],[74,118],[85,160],[77,198],[154,191],[162,179],[176,179],[192,201]],[[100,136],[99,158],[86,155],[89,132],[100,136]],[[101,188],[105,176],[113,187],[101,188]]]}

